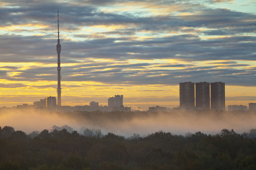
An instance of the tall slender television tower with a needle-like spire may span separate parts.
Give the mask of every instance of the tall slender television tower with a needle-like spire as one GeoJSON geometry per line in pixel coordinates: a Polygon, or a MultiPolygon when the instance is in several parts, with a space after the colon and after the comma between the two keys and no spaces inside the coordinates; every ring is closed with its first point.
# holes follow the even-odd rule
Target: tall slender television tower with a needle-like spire
{"type": "Polygon", "coordinates": [[[60,45],[60,32],[59,32],[59,10],[58,10],[58,44],[56,45],[56,50],[58,53],[58,87],[57,87],[57,105],[58,107],[61,107],[61,87],[60,87],[60,51],[61,51],[61,45],[60,45]]]}

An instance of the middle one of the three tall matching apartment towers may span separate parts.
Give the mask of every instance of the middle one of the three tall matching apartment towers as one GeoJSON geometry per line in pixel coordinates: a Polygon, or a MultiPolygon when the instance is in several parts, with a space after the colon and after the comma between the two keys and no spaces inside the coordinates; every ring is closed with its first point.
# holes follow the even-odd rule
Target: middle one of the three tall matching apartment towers
{"type": "Polygon", "coordinates": [[[210,109],[210,83],[196,83],[196,108],[210,109]]]}

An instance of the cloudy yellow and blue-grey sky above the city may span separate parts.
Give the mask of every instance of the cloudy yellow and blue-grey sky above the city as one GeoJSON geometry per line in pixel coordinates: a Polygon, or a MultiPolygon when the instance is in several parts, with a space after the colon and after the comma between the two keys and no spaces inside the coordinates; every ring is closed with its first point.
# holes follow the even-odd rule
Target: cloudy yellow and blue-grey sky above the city
{"type": "Polygon", "coordinates": [[[256,1],[0,1],[0,107],[179,106],[179,82],[225,82],[226,106],[256,103],[256,1]]]}

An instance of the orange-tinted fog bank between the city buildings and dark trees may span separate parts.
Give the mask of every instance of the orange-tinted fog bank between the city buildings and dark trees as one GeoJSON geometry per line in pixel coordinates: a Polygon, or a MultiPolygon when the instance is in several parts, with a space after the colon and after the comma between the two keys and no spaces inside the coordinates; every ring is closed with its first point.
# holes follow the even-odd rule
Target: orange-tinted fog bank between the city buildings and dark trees
{"type": "Polygon", "coordinates": [[[74,130],[100,129],[103,134],[130,137],[134,133],[147,135],[163,130],[172,134],[219,133],[222,129],[234,129],[237,133],[255,128],[254,112],[74,112],[58,113],[35,109],[6,109],[0,111],[0,126],[12,126],[27,134],[34,130],[51,130],[53,125],[71,126],[74,130]]]}

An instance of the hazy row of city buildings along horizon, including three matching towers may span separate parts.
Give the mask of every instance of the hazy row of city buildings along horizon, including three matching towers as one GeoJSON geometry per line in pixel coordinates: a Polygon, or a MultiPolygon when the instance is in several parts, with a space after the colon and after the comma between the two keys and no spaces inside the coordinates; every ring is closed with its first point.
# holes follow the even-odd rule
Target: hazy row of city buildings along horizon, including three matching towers
{"type": "MultiPolygon", "coordinates": [[[[166,112],[167,109],[170,112],[171,109],[174,111],[193,111],[193,110],[204,110],[204,111],[247,111],[247,105],[225,105],[225,83],[224,82],[183,82],[179,83],[180,91],[180,105],[176,108],[167,108],[159,105],[148,107],[146,111],[151,112],[166,112]],[[196,87],[196,88],[195,88],[196,87]]],[[[248,103],[248,111],[256,110],[256,103],[248,103]]],[[[102,105],[96,101],[90,101],[89,105],[76,105],[72,107],[70,105],[65,105],[59,107],[56,102],[55,96],[45,97],[40,99],[40,101],[34,101],[33,104],[23,103],[22,105],[17,105],[15,108],[20,109],[49,109],[51,111],[57,112],[74,112],[74,111],[121,111],[121,112],[137,112],[143,111],[140,107],[136,109],[131,109],[131,107],[126,107],[123,105],[123,95],[114,95],[114,97],[109,97],[108,105],[102,105]]],[[[2,107],[2,109],[7,109],[7,107],[2,107]]],[[[8,108],[11,109],[11,108],[8,108]]],[[[145,110],[144,110],[145,111],[145,110]]]]}

